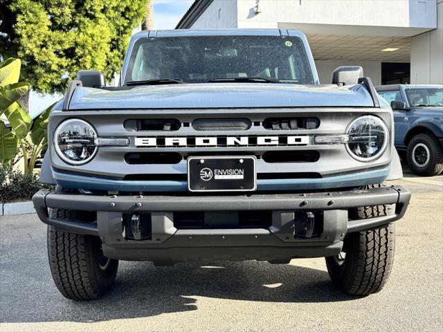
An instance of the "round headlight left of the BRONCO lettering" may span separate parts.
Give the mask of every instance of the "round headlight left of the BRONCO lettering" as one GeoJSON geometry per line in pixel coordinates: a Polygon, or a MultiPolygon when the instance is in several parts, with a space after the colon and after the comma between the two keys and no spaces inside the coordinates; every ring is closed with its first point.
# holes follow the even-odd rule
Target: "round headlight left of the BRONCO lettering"
{"type": "Polygon", "coordinates": [[[96,156],[96,137],[96,130],[88,122],[80,119],[66,120],[55,130],[55,151],[66,163],[85,164],[96,156]]]}

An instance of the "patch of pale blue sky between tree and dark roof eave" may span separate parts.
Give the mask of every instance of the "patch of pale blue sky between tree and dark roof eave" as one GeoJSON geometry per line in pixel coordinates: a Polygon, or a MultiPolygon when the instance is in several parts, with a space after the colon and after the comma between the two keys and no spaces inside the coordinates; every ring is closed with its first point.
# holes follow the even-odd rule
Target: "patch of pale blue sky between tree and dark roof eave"
{"type": "Polygon", "coordinates": [[[152,0],[154,5],[154,28],[173,29],[179,23],[194,0],[152,0]]]}

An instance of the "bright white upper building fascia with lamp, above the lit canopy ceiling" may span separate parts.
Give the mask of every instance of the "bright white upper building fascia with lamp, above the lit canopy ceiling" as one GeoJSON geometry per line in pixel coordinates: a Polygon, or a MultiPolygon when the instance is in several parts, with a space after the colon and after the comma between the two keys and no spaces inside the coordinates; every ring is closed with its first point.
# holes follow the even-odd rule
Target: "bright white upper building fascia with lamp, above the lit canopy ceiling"
{"type": "Polygon", "coordinates": [[[368,27],[435,28],[437,0],[256,0],[238,3],[239,28],[277,27],[277,23],[368,27]]]}

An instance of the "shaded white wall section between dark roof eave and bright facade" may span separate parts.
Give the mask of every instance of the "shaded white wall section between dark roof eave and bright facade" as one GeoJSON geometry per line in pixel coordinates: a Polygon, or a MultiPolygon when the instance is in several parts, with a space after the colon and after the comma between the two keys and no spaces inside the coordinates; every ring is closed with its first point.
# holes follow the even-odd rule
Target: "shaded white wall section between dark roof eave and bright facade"
{"type": "Polygon", "coordinates": [[[190,28],[237,28],[237,1],[214,0],[190,28]]]}

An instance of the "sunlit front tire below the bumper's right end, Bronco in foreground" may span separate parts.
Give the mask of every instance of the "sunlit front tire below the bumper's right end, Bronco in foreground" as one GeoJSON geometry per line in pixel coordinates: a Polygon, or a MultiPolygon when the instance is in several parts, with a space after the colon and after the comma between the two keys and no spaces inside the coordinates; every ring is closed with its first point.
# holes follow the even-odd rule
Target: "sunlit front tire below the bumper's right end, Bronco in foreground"
{"type": "MultiPolygon", "coordinates": [[[[357,209],[360,219],[392,214],[392,205],[357,209]]],[[[394,259],[395,225],[347,234],[340,255],[326,257],[333,284],[350,295],[381,291],[388,280],[394,259]]]]}

